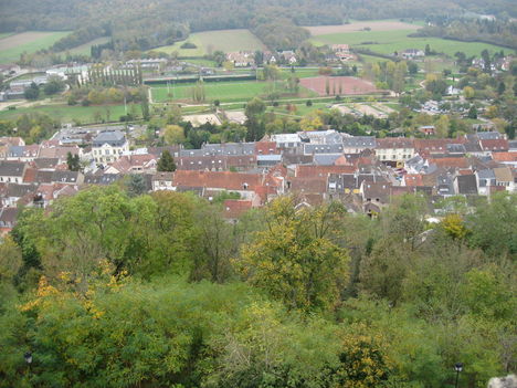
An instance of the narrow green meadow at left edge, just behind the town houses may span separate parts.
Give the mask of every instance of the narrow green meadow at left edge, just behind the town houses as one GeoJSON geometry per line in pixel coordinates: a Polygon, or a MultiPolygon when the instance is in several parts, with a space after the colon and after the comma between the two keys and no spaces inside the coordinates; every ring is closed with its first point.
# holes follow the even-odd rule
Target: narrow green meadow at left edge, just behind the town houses
{"type": "MultiPolygon", "coordinates": [[[[127,112],[135,111],[141,115],[140,105],[135,104],[127,106],[127,112]]],[[[95,116],[98,112],[102,119],[106,119],[107,111],[109,111],[109,120],[118,122],[119,117],[125,115],[124,105],[103,105],[103,106],[70,106],[70,105],[43,105],[27,108],[17,108],[14,111],[3,109],[0,111],[0,119],[14,119],[24,113],[44,113],[61,123],[72,123],[74,120],[81,124],[93,124],[98,122],[95,116]]]]}

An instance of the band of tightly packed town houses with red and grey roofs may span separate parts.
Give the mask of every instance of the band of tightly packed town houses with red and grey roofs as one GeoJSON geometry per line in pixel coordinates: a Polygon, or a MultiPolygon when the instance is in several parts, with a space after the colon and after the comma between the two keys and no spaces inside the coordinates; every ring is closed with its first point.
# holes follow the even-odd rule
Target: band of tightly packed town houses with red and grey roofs
{"type": "Polygon", "coordinates": [[[336,130],[276,134],[256,143],[204,144],[131,149],[126,134],[98,129],[82,138],[55,136],[39,145],[0,138],[0,229],[15,223],[20,206],[51,206],[89,185],[110,185],[128,175],[145,177],[149,191],[192,191],[208,200],[236,192],[224,202],[230,220],[285,193],[300,203],[342,202],[370,216],[403,193],[424,192],[431,201],[452,196],[492,196],[517,188],[517,141],[496,132],[455,139],[374,138],[336,130]],[[77,141],[80,143],[80,141],[77,141]],[[177,170],[157,171],[167,149],[177,170]],[[82,169],[71,171],[68,155],[82,169]]]}

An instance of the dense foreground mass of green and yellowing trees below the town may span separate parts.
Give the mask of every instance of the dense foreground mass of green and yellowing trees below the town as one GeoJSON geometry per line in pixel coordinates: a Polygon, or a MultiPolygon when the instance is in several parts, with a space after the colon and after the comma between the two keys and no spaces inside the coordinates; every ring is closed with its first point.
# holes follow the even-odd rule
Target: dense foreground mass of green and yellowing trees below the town
{"type": "Polygon", "coordinates": [[[0,244],[0,387],[486,387],[517,368],[517,197],[379,218],[286,196],[222,218],[141,180],[0,244]],[[27,365],[24,353],[32,364],[27,365]]]}

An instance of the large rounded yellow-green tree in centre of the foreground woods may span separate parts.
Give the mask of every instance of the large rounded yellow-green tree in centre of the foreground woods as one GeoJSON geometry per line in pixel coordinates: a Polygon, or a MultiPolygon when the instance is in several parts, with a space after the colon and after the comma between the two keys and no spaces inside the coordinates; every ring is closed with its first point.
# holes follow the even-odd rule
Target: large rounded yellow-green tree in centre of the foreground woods
{"type": "Polygon", "coordinates": [[[289,308],[333,308],[348,276],[348,253],[330,240],[342,209],[333,203],[295,210],[294,205],[294,197],[270,205],[266,230],[242,248],[236,268],[289,308]]]}

